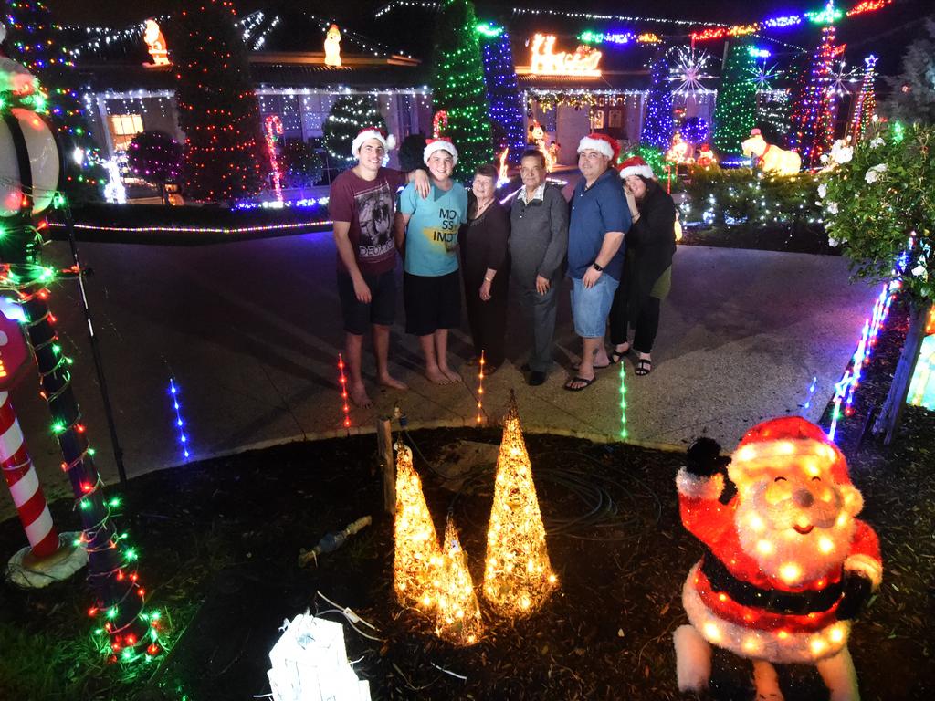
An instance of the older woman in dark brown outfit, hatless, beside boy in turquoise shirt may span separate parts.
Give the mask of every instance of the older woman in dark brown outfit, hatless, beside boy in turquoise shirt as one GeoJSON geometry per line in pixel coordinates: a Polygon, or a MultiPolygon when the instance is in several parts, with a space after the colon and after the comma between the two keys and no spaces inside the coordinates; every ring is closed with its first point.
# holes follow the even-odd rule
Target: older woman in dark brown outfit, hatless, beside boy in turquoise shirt
{"type": "Polygon", "coordinates": [[[474,341],[474,357],[468,365],[477,365],[483,351],[487,375],[503,363],[510,279],[510,214],[496,200],[496,176],[493,165],[478,167],[471,184],[468,223],[458,233],[468,323],[474,341]]]}

